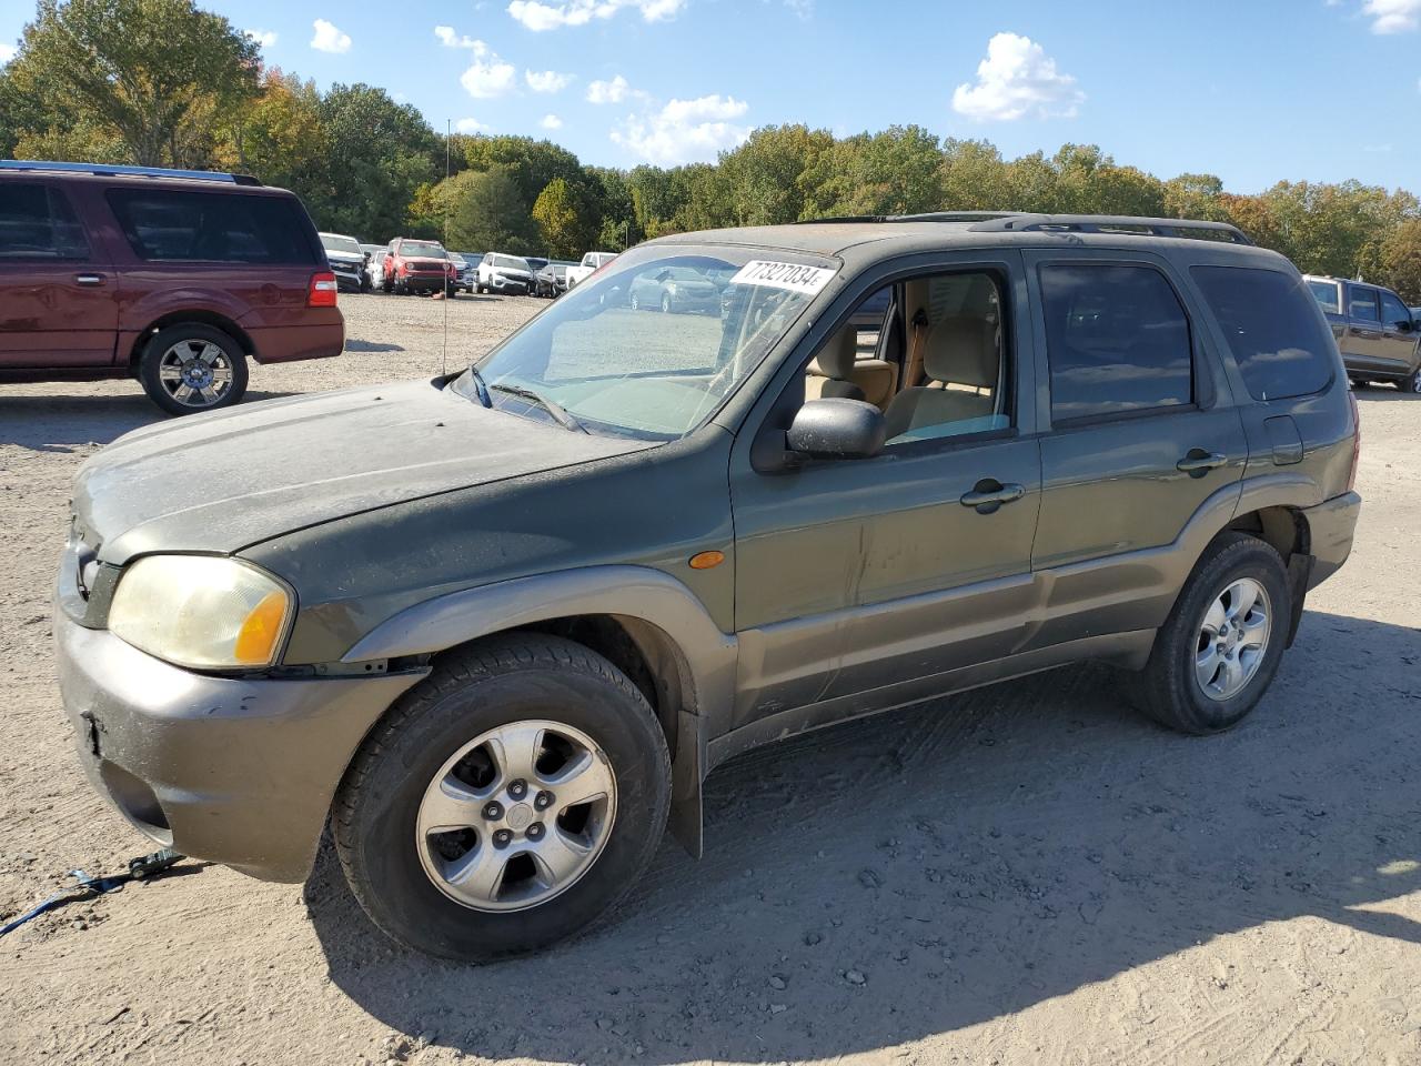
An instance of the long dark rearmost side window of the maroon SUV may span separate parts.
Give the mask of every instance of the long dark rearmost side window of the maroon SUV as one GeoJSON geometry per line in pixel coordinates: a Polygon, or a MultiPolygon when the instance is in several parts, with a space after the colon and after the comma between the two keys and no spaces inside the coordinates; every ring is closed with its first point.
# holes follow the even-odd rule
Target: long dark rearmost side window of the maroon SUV
{"type": "Polygon", "coordinates": [[[108,202],[139,259],[313,266],[325,257],[287,196],[109,189],[108,202]]]}

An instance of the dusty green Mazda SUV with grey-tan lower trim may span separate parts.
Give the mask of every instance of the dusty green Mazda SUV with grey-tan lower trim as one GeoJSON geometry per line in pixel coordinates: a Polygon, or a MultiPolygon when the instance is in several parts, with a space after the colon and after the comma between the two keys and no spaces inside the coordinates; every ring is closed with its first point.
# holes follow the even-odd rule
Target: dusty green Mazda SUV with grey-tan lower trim
{"type": "Polygon", "coordinates": [[[679,235],[449,377],[104,449],[64,702],[149,837],[300,881],[328,824],[385,932],[493,958],[668,824],[699,853],[759,743],[1081,659],[1228,729],[1347,557],[1357,443],[1316,301],[1229,226],[679,235]],[[668,270],[718,307],[632,308],[668,270]]]}

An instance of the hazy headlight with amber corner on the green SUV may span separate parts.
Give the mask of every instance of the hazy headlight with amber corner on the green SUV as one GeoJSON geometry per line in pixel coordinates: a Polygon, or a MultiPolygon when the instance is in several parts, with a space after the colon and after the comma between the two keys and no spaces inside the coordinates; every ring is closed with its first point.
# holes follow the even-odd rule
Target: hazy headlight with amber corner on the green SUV
{"type": "Polygon", "coordinates": [[[219,556],[148,556],[124,571],[108,628],[179,667],[269,667],[296,597],[270,574],[219,556]]]}

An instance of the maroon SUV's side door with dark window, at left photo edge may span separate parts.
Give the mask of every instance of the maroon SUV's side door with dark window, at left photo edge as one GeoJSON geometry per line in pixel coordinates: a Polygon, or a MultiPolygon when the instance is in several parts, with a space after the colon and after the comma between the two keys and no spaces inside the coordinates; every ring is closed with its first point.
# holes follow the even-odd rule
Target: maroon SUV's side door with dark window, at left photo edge
{"type": "Polygon", "coordinates": [[[107,367],[117,276],[60,183],[0,182],[0,367],[107,367]]]}

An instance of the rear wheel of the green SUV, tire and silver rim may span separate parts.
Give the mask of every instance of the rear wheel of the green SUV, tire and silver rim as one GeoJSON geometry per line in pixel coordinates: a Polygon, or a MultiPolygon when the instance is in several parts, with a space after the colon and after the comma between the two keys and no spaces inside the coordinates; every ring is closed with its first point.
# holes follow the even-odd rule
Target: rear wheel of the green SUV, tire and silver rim
{"type": "Polygon", "coordinates": [[[1238,725],[1277,672],[1292,610],[1270,544],[1245,533],[1215,537],[1155,637],[1141,678],[1145,714],[1185,733],[1238,725]]]}

